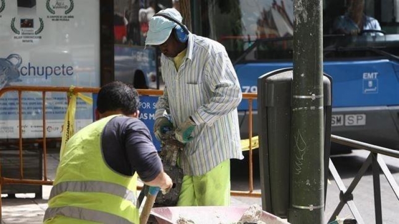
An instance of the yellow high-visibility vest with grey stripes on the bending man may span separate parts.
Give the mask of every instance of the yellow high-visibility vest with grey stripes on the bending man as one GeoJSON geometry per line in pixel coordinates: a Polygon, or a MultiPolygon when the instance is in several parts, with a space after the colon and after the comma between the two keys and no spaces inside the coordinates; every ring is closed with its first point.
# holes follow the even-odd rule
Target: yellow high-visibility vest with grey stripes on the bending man
{"type": "Polygon", "coordinates": [[[101,134],[102,118],[74,134],[60,158],[45,224],[138,224],[137,174],[125,176],[108,167],[101,134]]]}

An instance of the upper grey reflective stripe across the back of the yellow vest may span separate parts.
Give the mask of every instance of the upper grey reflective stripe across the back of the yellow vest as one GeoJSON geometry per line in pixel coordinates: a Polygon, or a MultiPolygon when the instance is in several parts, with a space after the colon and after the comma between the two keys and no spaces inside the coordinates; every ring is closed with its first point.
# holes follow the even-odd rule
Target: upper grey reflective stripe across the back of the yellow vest
{"type": "Polygon", "coordinates": [[[64,192],[98,192],[119,196],[136,205],[137,199],[133,191],[122,185],[103,181],[65,181],[51,189],[49,200],[64,192]]]}

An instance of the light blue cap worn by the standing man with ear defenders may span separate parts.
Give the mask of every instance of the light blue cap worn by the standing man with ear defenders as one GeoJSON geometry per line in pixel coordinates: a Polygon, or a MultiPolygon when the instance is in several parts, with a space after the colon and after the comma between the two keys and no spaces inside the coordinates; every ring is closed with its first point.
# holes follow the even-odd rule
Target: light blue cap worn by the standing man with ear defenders
{"type": "MultiPolygon", "coordinates": [[[[175,8],[167,8],[159,11],[157,14],[165,14],[176,20],[182,22],[183,17],[175,8]]],[[[149,22],[149,29],[147,32],[146,45],[160,45],[163,44],[171,35],[172,29],[178,25],[162,16],[153,16],[149,22]]]]}

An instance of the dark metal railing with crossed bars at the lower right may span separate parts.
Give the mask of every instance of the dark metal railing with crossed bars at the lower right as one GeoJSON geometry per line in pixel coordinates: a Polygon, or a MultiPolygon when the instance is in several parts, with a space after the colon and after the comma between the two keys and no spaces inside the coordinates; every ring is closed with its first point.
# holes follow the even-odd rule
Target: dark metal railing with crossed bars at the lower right
{"type": "Polygon", "coordinates": [[[394,177],[392,176],[392,173],[388,169],[387,164],[384,162],[384,160],[381,158],[380,155],[387,155],[399,158],[399,151],[395,151],[393,149],[384,148],[336,135],[331,135],[331,141],[358,149],[365,149],[367,151],[370,151],[370,154],[363,163],[362,167],[360,168],[356,176],[354,177],[354,179],[352,180],[348,189],[345,187],[344,182],[342,181],[340,175],[337,172],[337,169],[334,166],[334,163],[330,159],[329,169],[331,174],[333,175],[335,183],[337,184],[340,190],[340,195],[339,195],[340,202],[337,208],[335,209],[334,213],[331,215],[329,223],[335,220],[335,218],[339,215],[344,205],[346,204],[348,205],[356,221],[359,224],[366,224],[362,216],[360,215],[358,209],[356,208],[355,202],[353,201],[354,197],[352,193],[355,190],[360,179],[363,177],[363,175],[366,173],[367,169],[371,165],[373,170],[374,209],[376,215],[376,224],[382,224],[383,217],[382,217],[382,206],[381,206],[380,169],[387,178],[388,183],[390,184],[398,200],[399,200],[399,187],[398,183],[395,181],[394,177]]]}

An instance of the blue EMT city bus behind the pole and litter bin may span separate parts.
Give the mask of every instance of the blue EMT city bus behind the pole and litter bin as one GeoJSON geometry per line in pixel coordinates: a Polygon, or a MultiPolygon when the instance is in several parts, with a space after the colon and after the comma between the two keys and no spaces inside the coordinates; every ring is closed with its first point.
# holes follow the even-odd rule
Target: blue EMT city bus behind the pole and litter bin
{"type": "MultiPolygon", "coordinates": [[[[293,66],[293,6],[293,0],[201,0],[192,18],[194,32],[222,43],[242,92],[256,93],[259,76],[293,66]]],[[[399,0],[323,0],[333,134],[399,149],[398,31],[399,0]]],[[[241,138],[248,136],[247,110],[243,101],[241,138]]],[[[256,119],[255,111],[254,134],[256,119]]]]}

